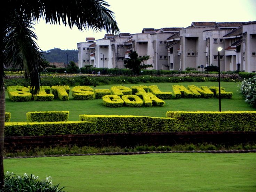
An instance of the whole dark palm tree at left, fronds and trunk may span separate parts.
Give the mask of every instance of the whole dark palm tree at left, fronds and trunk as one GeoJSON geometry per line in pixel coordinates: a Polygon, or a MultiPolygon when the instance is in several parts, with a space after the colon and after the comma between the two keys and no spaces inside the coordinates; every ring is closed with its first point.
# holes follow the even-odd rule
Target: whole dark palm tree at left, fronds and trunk
{"type": "Polygon", "coordinates": [[[31,30],[33,22],[41,18],[49,24],[61,24],[71,29],[106,30],[117,33],[119,28],[113,12],[104,0],[69,1],[17,1],[3,0],[0,6],[0,190],[3,182],[3,141],[5,125],[5,67],[23,70],[31,81],[35,93],[40,88],[40,72],[44,70],[44,59],[34,42],[37,35],[31,30]]]}

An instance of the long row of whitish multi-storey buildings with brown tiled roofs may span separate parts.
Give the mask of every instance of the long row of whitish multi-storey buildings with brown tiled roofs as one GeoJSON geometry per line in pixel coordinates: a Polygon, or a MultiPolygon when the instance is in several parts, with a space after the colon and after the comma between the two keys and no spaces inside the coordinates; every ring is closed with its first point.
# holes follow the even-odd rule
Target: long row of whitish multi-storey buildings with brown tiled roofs
{"type": "MultiPolygon", "coordinates": [[[[156,70],[218,66],[221,71],[256,71],[256,22],[192,22],[186,28],[144,28],[142,33],[106,34],[103,39],[78,43],[79,67],[123,68],[130,51],[139,57],[150,55],[144,64],[156,70]],[[90,54],[90,59],[89,59],[90,54]]],[[[152,68],[150,68],[152,69],[152,68]]]]}

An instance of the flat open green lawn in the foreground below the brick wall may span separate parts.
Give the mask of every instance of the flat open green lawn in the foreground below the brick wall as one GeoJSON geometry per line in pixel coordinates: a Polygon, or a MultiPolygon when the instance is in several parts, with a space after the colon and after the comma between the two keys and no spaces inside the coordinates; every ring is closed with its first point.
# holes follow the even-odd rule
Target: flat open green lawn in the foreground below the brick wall
{"type": "Polygon", "coordinates": [[[256,153],[6,159],[5,171],[53,177],[65,191],[256,191],[256,153]]]}

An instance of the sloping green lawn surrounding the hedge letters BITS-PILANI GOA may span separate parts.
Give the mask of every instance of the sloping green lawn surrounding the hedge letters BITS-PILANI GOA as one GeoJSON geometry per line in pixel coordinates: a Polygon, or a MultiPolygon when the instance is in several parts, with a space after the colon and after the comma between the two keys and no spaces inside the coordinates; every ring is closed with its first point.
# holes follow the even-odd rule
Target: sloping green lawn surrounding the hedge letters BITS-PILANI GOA
{"type": "MultiPolygon", "coordinates": [[[[173,92],[173,85],[195,86],[218,86],[218,82],[184,82],[184,83],[142,83],[142,84],[124,84],[130,87],[132,85],[157,85],[161,91],[173,92]]],[[[120,85],[120,84],[119,84],[120,85]]],[[[114,85],[97,86],[94,89],[110,89],[114,85]]],[[[221,82],[221,86],[226,91],[232,91],[232,99],[222,99],[222,111],[255,111],[255,108],[244,102],[238,90],[238,83],[221,82]]],[[[72,87],[71,87],[72,88],[72,87]]],[[[69,120],[79,120],[80,114],[116,114],[116,115],[146,115],[151,117],[166,117],[167,111],[218,111],[219,104],[217,98],[204,99],[170,99],[165,100],[163,107],[118,107],[111,108],[103,105],[102,99],[77,101],[72,98],[70,91],[69,101],[39,102],[11,102],[6,93],[6,112],[11,113],[11,122],[26,121],[26,112],[30,111],[70,111],[69,120]]]]}

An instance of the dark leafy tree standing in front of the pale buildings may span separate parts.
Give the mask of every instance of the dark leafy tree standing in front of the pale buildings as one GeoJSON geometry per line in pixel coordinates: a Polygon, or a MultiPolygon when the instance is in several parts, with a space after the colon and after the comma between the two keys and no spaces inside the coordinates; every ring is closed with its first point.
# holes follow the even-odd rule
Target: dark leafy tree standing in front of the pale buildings
{"type": "Polygon", "coordinates": [[[139,74],[139,72],[142,69],[146,69],[148,67],[153,67],[153,65],[145,65],[145,64],[141,65],[141,62],[144,62],[144,61],[150,59],[149,55],[139,58],[136,51],[133,51],[133,52],[129,53],[128,56],[130,58],[125,60],[125,68],[130,69],[131,71],[133,71],[134,74],[139,74]]]}

